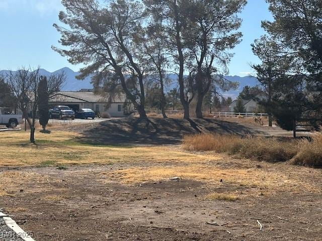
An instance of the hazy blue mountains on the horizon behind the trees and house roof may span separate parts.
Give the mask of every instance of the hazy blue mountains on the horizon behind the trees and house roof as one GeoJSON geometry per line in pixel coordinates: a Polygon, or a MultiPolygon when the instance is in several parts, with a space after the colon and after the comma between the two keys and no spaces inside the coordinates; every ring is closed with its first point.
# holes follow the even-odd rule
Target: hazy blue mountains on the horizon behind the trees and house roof
{"type": "MultiPolygon", "coordinates": [[[[78,91],[80,89],[92,89],[93,85],[91,84],[91,77],[87,77],[84,80],[78,80],[76,79],[76,76],[79,75],[79,72],[75,72],[71,70],[68,67],[64,67],[61,69],[58,69],[54,72],[49,72],[45,69],[40,69],[39,72],[41,75],[44,76],[49,76],[50,74],[55,74],[59,72],[65,72],[66,75],[66,81],[62,87],[63,91],[78,91]]],[[[9,71],[8,70],[0,70],[0,75],[2,74],[7,74],[9,71]]],[[[252,76],[245,76],[245,77],[240,77],[237,75],[231,76],[231,75],[225,75],[224,76],[227,80],[237,82],[239,84],[238,88],[236,90],[229,90],[226,92],[223,92],[222,94],[226,97],[230,96],[233,99],[239,94],[239,92],[243,89],[244,86],[249,85],[251,87],[258,85],[259,82],[255,77],[252,76]]],[[[176,81],[176,75],[170,75],[170,78],[176,81]]],[[[174,84],[175,86],[175,84],[174,84]]]]}

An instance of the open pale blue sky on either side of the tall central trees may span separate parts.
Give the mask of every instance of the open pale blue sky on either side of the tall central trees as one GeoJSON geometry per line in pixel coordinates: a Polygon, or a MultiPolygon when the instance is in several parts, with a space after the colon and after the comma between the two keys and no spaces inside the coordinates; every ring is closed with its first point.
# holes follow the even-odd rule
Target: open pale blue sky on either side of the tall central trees
{"type": "MultiPolygon", "coordinates": [[[[52,27],[59,23],[60,10],[60,0],[0,0],[0,70],[40,66],[50,72],[63,67],[77,71],[80,66],[69,64],[51,50],[60,38],[52,27]]],[[[259,62],[250,44],[264,34],[261,21],[272,17],[265,0],[248,0],[240,17],[244,36],[233,50],[229,74],[245,76],[252,72],[249,64],[259,62]]]]}

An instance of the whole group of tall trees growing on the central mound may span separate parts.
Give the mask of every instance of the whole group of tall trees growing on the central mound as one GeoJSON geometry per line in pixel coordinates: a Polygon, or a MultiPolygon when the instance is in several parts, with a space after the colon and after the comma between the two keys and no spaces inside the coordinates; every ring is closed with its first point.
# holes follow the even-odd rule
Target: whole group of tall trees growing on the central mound
{"type": "Polygon", "coordinates": [[[98,92],[124,92],[141,118],[146,117],[146,90],[157,86],[164,117],[165,84],[174,73],[184,117],[195,99],[202,117],[205,96],[236,85],[224,79],[231,50],[240,42],[237,14],[246,0],[95,0],[62,1],[64,26],[53,47],[72,64],[86,64],[79,79],[93,75],[98,92]]]}

